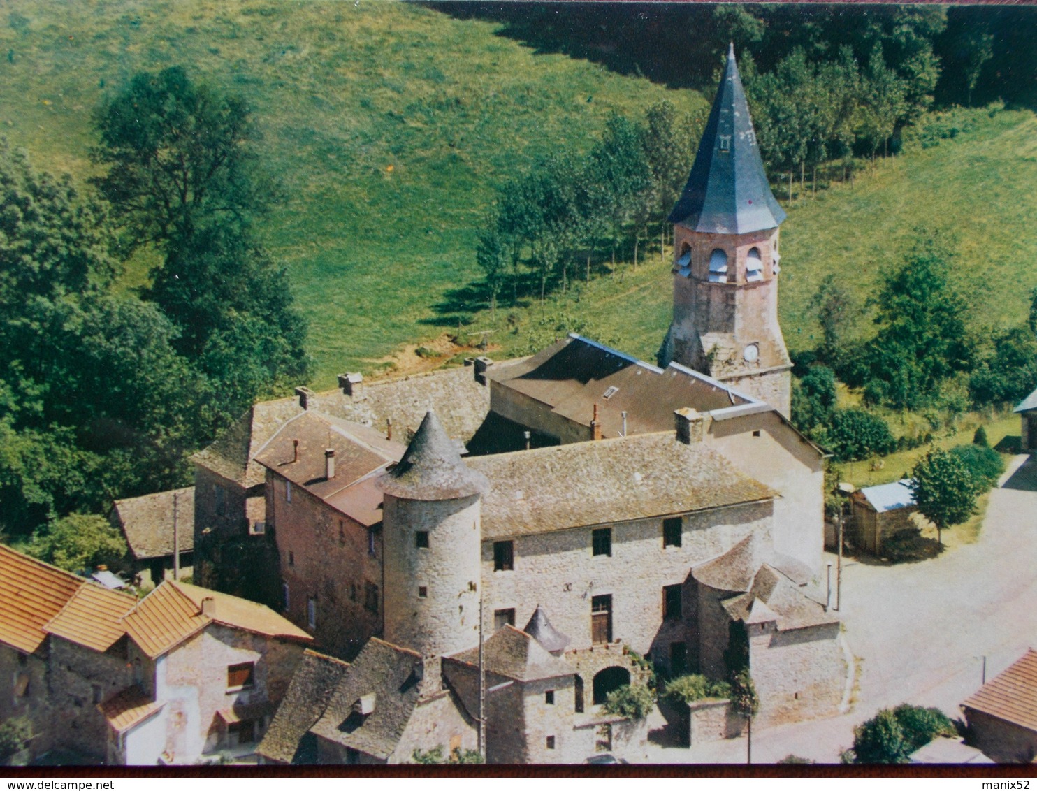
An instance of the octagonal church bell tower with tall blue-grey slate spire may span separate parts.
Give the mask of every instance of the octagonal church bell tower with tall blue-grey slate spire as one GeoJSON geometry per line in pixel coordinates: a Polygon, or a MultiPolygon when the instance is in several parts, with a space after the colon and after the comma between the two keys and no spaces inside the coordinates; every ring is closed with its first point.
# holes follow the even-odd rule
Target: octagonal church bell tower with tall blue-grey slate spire
{"type": "Polygon", "coordinates": [[[792,365],[778,326],[784,219],[763,170],[732,45],[692,173],[670,214],[673,323],[661,358],[788,417],[792,365]]]}

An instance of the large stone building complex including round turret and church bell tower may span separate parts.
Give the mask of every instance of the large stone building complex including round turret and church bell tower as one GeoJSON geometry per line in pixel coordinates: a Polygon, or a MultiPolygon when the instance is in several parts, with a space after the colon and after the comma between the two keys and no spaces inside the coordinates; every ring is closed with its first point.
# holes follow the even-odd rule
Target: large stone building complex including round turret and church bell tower
{"type": "Polygon", "coordinates": [[[261,582],[323,652],[264,760],[469,748],[480,620],[493,761],[622,750],[644,733],[602,711],[611,690],[652,665],[723,678],[734,642],[760,725],[836,710],[840,626],[812,586],[823,453],[788,422],[777,321],[784,217],[731,52],[670,218],[662,366],[570,335],[396,382],[344,373],[195,456],[196,578],[261,582]]]}

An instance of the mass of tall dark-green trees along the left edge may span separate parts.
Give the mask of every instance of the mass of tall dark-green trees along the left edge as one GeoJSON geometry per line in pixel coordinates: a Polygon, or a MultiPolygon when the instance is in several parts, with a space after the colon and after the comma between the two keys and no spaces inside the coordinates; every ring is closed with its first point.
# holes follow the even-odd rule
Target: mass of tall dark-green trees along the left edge
{"type": "Polygon", "coordinates": [[[172,67],[134,77],[94,121],[100,174],[84,188],[0,142],[12,538],[183,485],[190,452],[309,366],[285,272],[254,231],[278,191],[247,103],[172,67]],[[125,288],[141,260],[155,261],[147,285],[125,288]]]}

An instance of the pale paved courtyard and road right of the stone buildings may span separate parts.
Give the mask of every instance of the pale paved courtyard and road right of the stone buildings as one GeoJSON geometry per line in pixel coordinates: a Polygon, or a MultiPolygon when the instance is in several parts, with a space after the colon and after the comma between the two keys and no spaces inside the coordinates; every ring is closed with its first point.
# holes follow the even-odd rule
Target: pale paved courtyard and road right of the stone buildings
{"type": "MultiPolygon", "coordinates": [[[[829,557],[826,560],[835,560],[829,557]]],[[[757,731],[754,763],[794,754],[836,763],[853,726],[899,703],[958,704],[1037,646],[1037,460],[1017,456],[990,493],[979,539],[919,563],[844,563],[846,644],[857,657],[848,713],[757,731]]],[[[746,739],[692,750],[651,745],[666,763],[745,763],[746,739]]]]}

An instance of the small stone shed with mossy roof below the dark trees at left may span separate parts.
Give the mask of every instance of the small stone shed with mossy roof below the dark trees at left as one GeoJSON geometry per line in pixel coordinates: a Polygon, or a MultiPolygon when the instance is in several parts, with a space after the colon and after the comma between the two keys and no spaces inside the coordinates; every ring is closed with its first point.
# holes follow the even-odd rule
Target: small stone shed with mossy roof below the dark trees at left
{"type": "Polygon", "coordinates": [[[172,578],[174,550],[181,575],[194,573],[194,486],[116,500],[109,521],[130,547],[130,571],[145,587],[172,578]]]}

